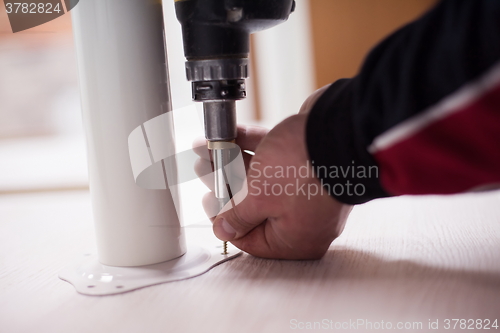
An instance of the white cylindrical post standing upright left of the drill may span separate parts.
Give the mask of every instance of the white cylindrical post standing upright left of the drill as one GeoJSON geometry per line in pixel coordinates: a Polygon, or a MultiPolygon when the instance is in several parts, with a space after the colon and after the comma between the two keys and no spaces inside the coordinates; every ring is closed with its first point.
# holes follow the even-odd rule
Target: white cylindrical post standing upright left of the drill
{"type": "MultiPolygon", "coordinates": [[[[161,1],[85,0],[72,13],[99,261],[141,266],[179,257],[186,246],[178,198],[168,186],[135,183],[128,147],[134,129],[171,111],[161,1]]],[[[172,171],[164,170],[165,182],[172,171]]]]}

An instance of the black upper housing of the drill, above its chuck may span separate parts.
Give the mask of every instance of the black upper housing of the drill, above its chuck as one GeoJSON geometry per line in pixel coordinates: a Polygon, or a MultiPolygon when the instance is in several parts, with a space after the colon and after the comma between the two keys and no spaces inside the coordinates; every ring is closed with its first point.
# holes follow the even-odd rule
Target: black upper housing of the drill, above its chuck
{"type": "Polygon", "coordinates": [[[250,34],[282,23],[294,0],[178,0],[187,60],[248,57],[250,34]]]}

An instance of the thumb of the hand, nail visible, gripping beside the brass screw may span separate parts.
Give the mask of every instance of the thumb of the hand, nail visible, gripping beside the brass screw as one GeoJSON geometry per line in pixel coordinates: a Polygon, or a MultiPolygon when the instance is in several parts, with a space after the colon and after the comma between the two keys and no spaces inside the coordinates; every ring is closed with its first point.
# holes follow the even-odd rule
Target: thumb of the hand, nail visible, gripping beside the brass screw
{"type": "Polygon", "coordinates": [[[262,204],[259,204],[256,197],[252,195],[238,200],[238,194],[227,203],[215,218],[213,230],[215,236],[220,240],[233,241],[242,238],[269,216],[263,201],[260,201],[262,204]],[[236,202],[238,204],[235,204],[236,202]]]}

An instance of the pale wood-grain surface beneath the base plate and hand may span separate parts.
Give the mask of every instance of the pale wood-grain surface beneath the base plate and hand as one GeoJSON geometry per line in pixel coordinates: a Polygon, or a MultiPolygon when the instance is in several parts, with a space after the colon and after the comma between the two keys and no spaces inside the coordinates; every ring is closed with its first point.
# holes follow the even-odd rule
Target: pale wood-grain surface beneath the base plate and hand
{"type": "MultiPolygon", "coordinates": [[[[208,227],[187,234],[215,241],[208,227]]],[[[436,320],[453,332],[460,324],[445,330],[445,319],[500,320],[500,192],[373,201],[354,209],[320,261],[245,254],[116,296],[82,296],[57,278],[93,251],[88,192],[0,195],[0,332],[320,332],[336,323],[380,332],[389,322],[426,332],[436,320]]]]}

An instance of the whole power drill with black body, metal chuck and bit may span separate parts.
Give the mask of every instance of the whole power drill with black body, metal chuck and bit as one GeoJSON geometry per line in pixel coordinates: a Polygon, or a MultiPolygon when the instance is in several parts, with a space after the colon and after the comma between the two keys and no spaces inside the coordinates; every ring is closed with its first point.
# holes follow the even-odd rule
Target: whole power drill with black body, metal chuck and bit
{"type": "Polygon", "coordinates": [[[182,25],[186,76],[203,103],[205,137],[220,209],[231,199],[224,166],[235,156],[236,101],[246,97],[250,34],[282,23],[294,0],[175,0],[182,25]]]}

